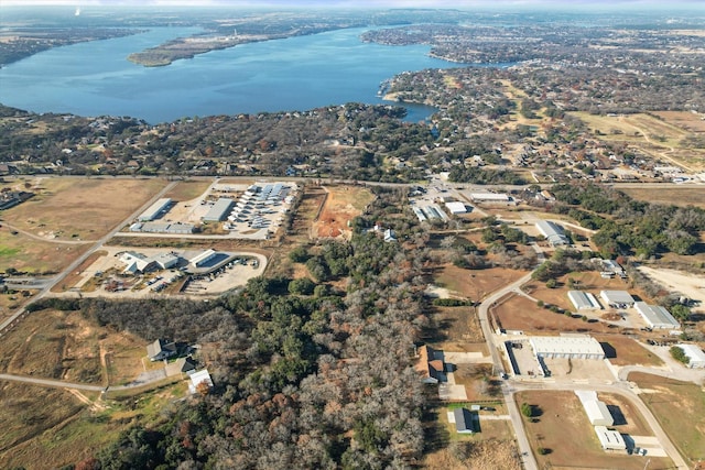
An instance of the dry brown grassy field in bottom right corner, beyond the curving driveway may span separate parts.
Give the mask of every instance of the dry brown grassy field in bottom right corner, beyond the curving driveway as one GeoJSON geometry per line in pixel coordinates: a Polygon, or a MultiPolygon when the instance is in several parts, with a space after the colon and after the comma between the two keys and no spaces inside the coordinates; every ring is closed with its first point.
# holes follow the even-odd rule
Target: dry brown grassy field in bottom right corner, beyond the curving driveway
{"type": "Polygon", "coordinates": [[[694,464],[705,459],[705,392],[690,382],[632,372],[629,380],[652,393],[641,400],[654,414],[681,455],[694,464]]]}

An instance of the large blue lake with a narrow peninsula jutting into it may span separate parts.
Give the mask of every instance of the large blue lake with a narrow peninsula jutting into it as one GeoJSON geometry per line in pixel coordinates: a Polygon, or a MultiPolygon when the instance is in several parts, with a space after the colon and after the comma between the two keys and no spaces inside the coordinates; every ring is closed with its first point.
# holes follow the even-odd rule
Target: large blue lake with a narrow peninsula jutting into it
{"type": "MultiPolygon", "coordinates": [[[[362,43],[364,29],[250,43],[142,67],[133,52],[197,30],[163,28],[50,50],[0,69],[0,102],[34,112],[131,116],[150,123],[183,117],[380,103],[382,80],[404,70],[449,68],[427,46],[362,43]]],[[[408,106],[406,120],[432,108],[408,106]]]]}

